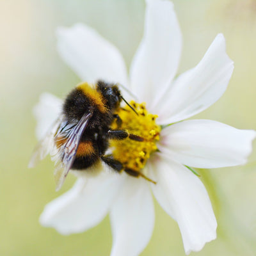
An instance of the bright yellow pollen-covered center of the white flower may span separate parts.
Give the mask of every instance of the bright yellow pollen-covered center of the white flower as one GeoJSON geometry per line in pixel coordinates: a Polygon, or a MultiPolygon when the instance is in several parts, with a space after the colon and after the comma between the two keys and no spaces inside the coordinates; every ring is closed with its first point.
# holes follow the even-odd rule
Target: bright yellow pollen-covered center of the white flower
{"type": "Polygon", "coordinates": [[[161,127],[156,124],[157,115],[148,113],[144,102],[138,104],[131,101],[130,104],[138,115],[127,105],[120,108],[116,114],[120,116],[122,124],[118,126],[118,122],[113,122],[111,129],[126,130],[144,140],[136,141],[130,138],[111,140],[110,146],[113,149],[114,159],[120,161],[124,168],[140,172],[150,154],[157,150],[156,142],[159,141],[161,127]]]}

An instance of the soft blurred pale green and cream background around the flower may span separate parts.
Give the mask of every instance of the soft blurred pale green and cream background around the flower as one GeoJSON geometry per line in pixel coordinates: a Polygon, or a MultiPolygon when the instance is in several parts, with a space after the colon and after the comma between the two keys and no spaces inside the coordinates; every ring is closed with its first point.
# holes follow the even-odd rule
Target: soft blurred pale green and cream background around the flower
{"type": "MultiPolygon", "coordinates": [[[[179,72],[195,66],[220,32],[235,63],[227,92],[196,117],[256,129],[256,1],[173,2],[184,39],[179,72]]],[[[44,205],[75,179],[70,175],[56,193],[49,157],[27,168],[36,144],[32,109],[40,93],[65,97],[79,82],[56,52],[58,26],[92,26],[120,49],[129,67],[144,13],[144,0],[0,0],[0,255],[109,255],[108,217],[72,236],[38,223],[44,205]]],[[[246,166],[199,172],[218,220],[218,238],[191,255],[255,255],[256,151],[246,166]]],[[[177,223],[155,205],[154,234],[141,255],[185,255],[177,223]]]]}

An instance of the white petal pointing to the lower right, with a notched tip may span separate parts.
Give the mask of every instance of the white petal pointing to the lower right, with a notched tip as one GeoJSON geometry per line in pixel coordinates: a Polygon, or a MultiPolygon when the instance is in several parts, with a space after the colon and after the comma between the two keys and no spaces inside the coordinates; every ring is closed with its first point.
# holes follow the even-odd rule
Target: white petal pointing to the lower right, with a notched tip
{"type": "Polygon", "coordinates": [[[185,252],[198,252],[216,239],[217,223],[204,185],[188,168],[157,156],[150,177],[157,201],[177,221],[185,252]]]}

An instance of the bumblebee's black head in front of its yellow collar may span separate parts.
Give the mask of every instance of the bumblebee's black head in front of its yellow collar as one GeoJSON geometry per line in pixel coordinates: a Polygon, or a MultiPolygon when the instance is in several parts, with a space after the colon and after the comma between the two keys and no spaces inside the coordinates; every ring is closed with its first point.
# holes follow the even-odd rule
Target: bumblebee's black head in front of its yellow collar
{"type": "Polygon", "coordinates": [[[98,81],[97,90],[102,94],[110,109],[114,110],[120,106],[122,95],[118,89],[118,86],[105,83],[103,81],[98,81]]]}

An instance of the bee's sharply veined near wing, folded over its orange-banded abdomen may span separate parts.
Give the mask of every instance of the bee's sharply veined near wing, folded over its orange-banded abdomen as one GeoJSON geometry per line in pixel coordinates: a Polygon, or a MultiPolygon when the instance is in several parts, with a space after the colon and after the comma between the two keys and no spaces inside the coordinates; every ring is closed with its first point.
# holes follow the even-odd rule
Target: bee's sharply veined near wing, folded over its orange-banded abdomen
{"type": "MultiPolygon", "coordinates": [[[[91,117],[92,112],[85,113],[77,124],[69,124],[67,127],[63,127],[63,129],[58,130],[60,131],[60,135],[63,133],[67,134],[65,135],[65,143],[63,143],[57,152],[58,157],[54,172],[56,191],[61,188],[72,164],[74,163],[81,136],[83,135],[84,129],[88,125],[91,117]]],[[[58,134],[56,134],[56,137],[58,137],[58,134]]]]}

